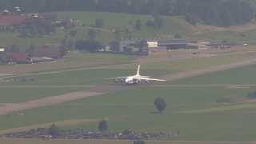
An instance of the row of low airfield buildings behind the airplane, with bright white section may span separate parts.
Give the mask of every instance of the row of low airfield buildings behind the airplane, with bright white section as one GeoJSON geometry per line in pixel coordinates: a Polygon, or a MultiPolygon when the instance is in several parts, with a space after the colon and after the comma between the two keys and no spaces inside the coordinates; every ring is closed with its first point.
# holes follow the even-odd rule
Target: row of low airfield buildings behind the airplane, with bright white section
{"type": "Polygon", "coordinates": [[[162,39],[129,39],[122,40],[119,45],[120,51],[134,51],[142,52],[144,54],[150,53],[154,50],[182,50],[182,49],[227,49],[234,47],[241,47],[242,44],[231,42],[190,42],[183,39],[162,40],[162,39]]]}

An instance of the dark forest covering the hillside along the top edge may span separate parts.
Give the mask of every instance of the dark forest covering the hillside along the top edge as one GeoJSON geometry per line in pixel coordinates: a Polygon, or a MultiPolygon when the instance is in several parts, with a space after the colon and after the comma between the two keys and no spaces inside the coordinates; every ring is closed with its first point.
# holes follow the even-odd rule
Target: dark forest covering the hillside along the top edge
{"type": "Polygon", "coordinates": [[[1,0],[0,10],[20,6],[26,12],[106,11],[128,14],[183,15],[191,24],[242,25],[254,18],[254,0],[1,0]]]}

